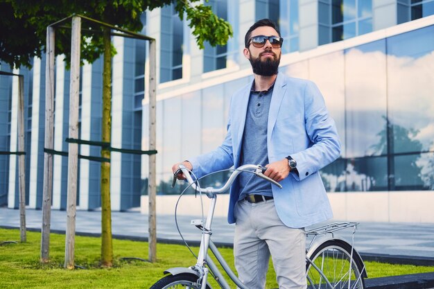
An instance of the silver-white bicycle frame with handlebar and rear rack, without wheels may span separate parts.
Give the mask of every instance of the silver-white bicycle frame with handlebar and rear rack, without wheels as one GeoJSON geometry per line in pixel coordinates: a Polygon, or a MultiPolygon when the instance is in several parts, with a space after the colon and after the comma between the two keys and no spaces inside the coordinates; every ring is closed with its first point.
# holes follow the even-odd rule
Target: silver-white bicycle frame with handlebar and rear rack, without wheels
{"type": "MultiPolygon", "coordinates": [[[[269,177],[266,177],[266,175],[263,175],[262,166],[247,164],[244,166],[240,166],[239,168],[234,170],[234,173],[232,173],[232,175],[230,175],[227,182],[221,188],[215,189],[215,188],[208,187],[208,188],[202,189],[202,188],[200,188],[200,186],[198,186],[196,184],[195,181],[193,181],[193,179],[191,178],[191,175],[189,173],[189,170],[187,170],[185,166],[180,165],[179,169],[182,170],[182,173],[186,177],[187,182],[192,186],[192,188],[194,190],[198,191],[199,193],[205,193],[207,195],[207,197],[211,199],[211,204],[209,205],[209,211],[208,211],[207,219],[205,220],[205,225],[202,223],[202,220],[192,220],[191,221],[191,225],[196,225],[196,227],[202,229],[202,238],[200,241],[200,249],[199,249],[198,259],[196,261],[196,265],[193,265],[189,268],[170,268],[170,269],[164,271],[164,273],[165,274],[170,273],[172,275],[182,274],[182,273],[196,274],[196,276],[198,276],[198,285],[201,286],[200,287],[201,289],[206,289],[209,270],[211,270],[211,274],[214,275],[214,278],[216,279],[218,285],[223,289],[230,289],[229,283],[227,283],[227,281],[223,277],[223,274],[217,268],[214,261],[212,261],[211,257],[208,256],[208,254],[207,254],[208,249],[211,249],[211,252],[213,252],[218,263],[220,263],[223,270],[225,270],[225,272],[227,273],[229,278],[236,284],[236,286],[238,286],[238,288],[241,288],[241,289],[249,289],[241,282],[240,279],[238,279],[238,277],[236,277],[236,274],[231,270],[231,268],[229,268],[229,265],[227,265],[225,259],[223,259],[223,256],[220,254],[220,252],[218,252],[216,245],[214,245],[214,243],[211,241],[211,234],[212,234],[211,224],[212,224],[212,220],[214,218],[214,209],[216,207],[217,195],[218,195],[218,193],[224,193],[225,191],[227,191],[229,189],[229,187],[231,186],[231,184],[234,182],[234,179],[236,179],[236,177],[241,172],[243,172],[245,170],[250,170],[252,173],[257,175],[258,177],[261,177],[263,179],[268,180],[272,184],[275,184],[276,186],[278,186],[280,189],[281,189],[281,184],[275,182],[273,179],[270,179],[269,177]],[[207,268],[207,266],[209,269],[207,268]]],[[[175,175],[176,175],[176,173],[175,173],[175,175]]],[[[173,178],[172,186],[174,186],[174,184],[176,182],[175,175],[173,178]]],[[[327,225],[324,227],[319,227],[319,228],[315,228],[315,229],[310,230],[310,231],[306,231],[306,234],[313,234],[314,235],[314,238],[311,241],[308,248],[306,249],[306,251],[313,252],[318,246],[320,246],[325,241],[332,240],[334,238],[333,237],[334,231],[344,229],[345,227],[354,227],[355,228],[356,225],[357,225],[357,223],[354,223],[354,222],[333,223],[331,225],[327,225]],[[331,233],[331,235],[328,233],[331,233]],[[316,236],[318,236],[318,235],[322,235],[323,238],[316,238],[316,236]]],[[[345,241],[343,239],[340,239],[340,240],[345,241]]],[[[354,242],[354,237],[353,237],[353,242],[354,242]]],[[[352,245],[353,244],[351,244],[351,248],[352,248],[352,245]]],[[[309,252],[307,252],[307,253],[309,253],[309,252]]],[[[351,250],[351,261],[350,262],[352,262],[352,253],[353,252],[355,254],[358,254],[354,249],[351,250]]],[[[322,276],[322,278],[324,278],[324,281],[326,281],[329,288],[333,288],[333,286],[331,285],[331,283],[329,282],[327,277],[324,275],[324,273],[320,270],[320,268],[318,268],[317,265],[315,265],[315,263],[313,263],[311,261],[311,259],[309,259],[307,254],[306,254],[306,261],[309,262],[313,266],[313,268],[315,268],[315,270],[318,271],[318,273],[322,276]]],[[[351,270],[351,266],[350,266],[350,270],[351,270]]]]}

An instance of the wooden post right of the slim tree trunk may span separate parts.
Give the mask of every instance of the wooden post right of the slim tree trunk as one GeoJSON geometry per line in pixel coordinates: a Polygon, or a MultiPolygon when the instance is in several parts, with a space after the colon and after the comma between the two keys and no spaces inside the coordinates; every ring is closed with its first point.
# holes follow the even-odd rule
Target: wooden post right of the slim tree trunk
{"type": "MultiPolygon", "coordinates": [[[[157,143],[157,45],[155,40],[149,42],[149,150],[156,149],[157,143]]],[[[149,252],[148,257],[150,262],[157,261],[157,216],[156,216],[156,194],[157,194],[157,179],[156,179],[156,155],[149,156],[149,179],[148,179],[148,197],[149,197],[149,252]]]]}

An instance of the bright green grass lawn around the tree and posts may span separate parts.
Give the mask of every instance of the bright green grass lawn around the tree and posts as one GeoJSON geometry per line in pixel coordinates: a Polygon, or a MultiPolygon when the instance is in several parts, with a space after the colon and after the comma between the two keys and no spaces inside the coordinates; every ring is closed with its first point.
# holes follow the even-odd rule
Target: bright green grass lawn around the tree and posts
{"type": "MultiPolygon", "coordinates": [[[[166,244],[157,245],[157,263],[123,261],[122,257],[148,259],[148,243],[114,240],[114,267],[100,268],[100,238],[76,236],[76,265],[86,269],[65,270],[65,236],[51,234],[51,261],[46,265],[39,262],[40,238],[40,233],[28,231],[27,243],[0,246],[0,288],[150,288],[163,277],[165,269],[196,263],[183,245],[166,244]]],[[[0,243],[6,240],[19,240],[19,230],[0,229],[0,243]]],[[[193,248],[193,251],[197,250],[197,247],[193,248]]],[[[220,252],[229,265],[234,263],[231,248],[220,249],[220,252]]],[[[434,267],[376,262],[366,262],[366,268],[370,278],[434,272],[434,267]]],[[[277,288],[273,270],[268,273],[267,288],[277,288]]]]}

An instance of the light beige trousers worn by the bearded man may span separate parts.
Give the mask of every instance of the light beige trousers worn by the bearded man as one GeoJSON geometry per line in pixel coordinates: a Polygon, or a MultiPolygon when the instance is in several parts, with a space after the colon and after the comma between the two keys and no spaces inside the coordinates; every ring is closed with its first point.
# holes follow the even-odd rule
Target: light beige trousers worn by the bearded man
{"type": "Polygon", "coordinates": [[[249,289],[264,289],[270,254],[279,289],[306,288],[306,234],[286,227],[274,200],[235,207],[234,256],[238,277],[249,289]]]}

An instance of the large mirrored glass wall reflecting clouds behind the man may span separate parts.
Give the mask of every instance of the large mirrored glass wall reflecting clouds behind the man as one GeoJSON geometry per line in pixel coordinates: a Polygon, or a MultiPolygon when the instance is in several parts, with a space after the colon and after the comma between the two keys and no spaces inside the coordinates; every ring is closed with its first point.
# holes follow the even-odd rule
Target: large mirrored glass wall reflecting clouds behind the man
{"type": "MultiPolygon", "coordinates": [[[[279,73],[313,80],[336,121],[342,155],[321,170],[327,191],[434,189],[433,25],[281,65],[279,73]]],[[[251,81],[234,77],[158,102],[158,193],[179,191],[168,186],[175,161],[220,145],[229,98],[251,81]]]]}

